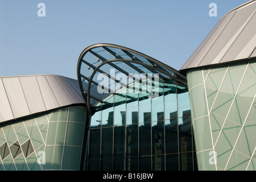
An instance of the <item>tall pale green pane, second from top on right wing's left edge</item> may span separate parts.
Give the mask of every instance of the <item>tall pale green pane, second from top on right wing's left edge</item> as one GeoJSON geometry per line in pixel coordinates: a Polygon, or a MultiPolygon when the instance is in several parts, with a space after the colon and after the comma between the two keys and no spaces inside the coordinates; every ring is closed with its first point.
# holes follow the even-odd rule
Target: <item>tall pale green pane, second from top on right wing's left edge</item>
{"type": "Polygon", "coordinates": [[[199,85],[190,90],[191,107],[193,111],[193,119],[208,115],[205,88],[199,85]]]}

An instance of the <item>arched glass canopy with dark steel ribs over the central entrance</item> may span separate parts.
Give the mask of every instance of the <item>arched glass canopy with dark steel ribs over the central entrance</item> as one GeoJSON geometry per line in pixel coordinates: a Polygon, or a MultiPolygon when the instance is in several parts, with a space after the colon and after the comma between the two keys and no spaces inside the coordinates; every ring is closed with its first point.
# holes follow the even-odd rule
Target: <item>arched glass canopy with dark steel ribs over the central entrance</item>
{"type": "Polygon", "coordinates": [[[138,79],[158,76],[186,85],[186,77],[175,69],[141,52],[114,44],[94,44],[83,50],[77,65],[78,83],[87,107],[93,107],[103,98],[138,79]],[[121,73],[123,76],[118,77],[121,73]],[[109,80],[102,84],[103,79],[109,80]],[[136,79],[136,77],[135,77],[136,79]],[[106,92],[99,93],[98,88],[106,92]]]}

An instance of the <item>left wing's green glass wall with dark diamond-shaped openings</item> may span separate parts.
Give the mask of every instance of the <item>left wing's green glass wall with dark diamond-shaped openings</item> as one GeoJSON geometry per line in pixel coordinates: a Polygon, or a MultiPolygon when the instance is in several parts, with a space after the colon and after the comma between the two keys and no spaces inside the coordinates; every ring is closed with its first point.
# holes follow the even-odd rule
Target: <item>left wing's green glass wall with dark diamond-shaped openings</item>
{"type": "Polygon", "coordinates": [[[86,107],[70,106],[0,125],[0,170],[79,170],[86,107]]]}

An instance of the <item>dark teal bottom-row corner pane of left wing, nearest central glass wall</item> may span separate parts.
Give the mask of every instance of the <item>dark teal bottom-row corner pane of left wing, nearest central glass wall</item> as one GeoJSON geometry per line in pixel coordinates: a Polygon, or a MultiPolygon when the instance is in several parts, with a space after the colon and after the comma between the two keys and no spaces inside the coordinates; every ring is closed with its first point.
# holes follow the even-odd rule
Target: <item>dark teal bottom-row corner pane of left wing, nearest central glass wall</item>
{"type": "Polygon", "coordinates": [[[81,150],[81,147],[65,146],[62,169],[78,171],[81,160],[81,150]]]}

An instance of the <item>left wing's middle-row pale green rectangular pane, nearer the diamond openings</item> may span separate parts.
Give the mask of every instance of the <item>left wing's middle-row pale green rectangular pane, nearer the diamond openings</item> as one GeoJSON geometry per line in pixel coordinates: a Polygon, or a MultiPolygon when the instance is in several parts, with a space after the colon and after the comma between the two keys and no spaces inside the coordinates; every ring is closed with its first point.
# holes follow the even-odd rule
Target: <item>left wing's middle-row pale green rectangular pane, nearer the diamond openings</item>
{"type": "Polygon", "coordinates": [[[47,144],[64,144],[67,122],[50,122],[47,144]]]}

